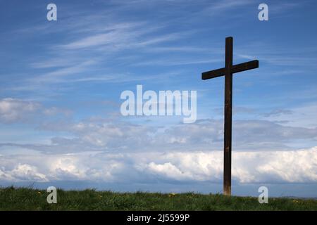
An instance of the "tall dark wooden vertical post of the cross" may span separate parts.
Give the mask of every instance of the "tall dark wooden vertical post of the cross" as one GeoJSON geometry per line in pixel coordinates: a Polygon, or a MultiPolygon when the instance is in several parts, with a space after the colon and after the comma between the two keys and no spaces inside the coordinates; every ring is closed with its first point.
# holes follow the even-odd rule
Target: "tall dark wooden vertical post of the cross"
{"type": "Polygon", "coordinates": [[[223,193],[231,195],[232,136],[232,37],[225,39],[225,134],[223,147],[223,193]]]}

